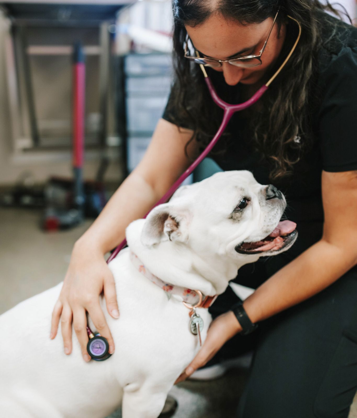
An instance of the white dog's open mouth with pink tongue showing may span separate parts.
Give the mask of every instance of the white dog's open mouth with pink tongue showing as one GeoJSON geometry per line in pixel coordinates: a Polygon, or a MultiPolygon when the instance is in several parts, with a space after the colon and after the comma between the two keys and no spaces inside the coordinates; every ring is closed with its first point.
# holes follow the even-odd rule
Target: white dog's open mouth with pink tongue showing
{"type": "Polygon", "coordinates": [[[296,224],[291,221],[280,221],[274,231],[264,240],[243,242],[236,246],[236,252],[241,254],[258,254],[266,251],[277,251],[289,245],[296,237],[296,224]]]}

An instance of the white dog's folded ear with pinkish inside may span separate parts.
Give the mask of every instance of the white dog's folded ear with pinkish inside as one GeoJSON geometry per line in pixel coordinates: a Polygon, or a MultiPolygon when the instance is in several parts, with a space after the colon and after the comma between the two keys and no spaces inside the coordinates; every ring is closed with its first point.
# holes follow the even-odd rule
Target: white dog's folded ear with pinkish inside
{"type": "Polygon", "coordinates": [[[157,206],[146,218],[141,243],[150,246],[168,240],[187,242],[189,218],[188,209],[170,203],[157,206]]]}

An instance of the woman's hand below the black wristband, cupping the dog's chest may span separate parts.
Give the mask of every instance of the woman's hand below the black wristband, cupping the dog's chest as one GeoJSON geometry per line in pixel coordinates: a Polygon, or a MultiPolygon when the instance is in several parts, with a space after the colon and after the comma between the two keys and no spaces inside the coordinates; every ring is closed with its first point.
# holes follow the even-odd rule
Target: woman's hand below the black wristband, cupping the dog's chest
{"type": "Polygon", "coordinates": [[[209,360],[211,360],[216,352],[218,352],[223,344],[225,344],[239,331],[241,331],[241,326],[232,311],[228,311],[225,314],[217,316],[217,318],[211,322],[211,326],[207,332],[207,338],[200,351],[189,366],[186,367],[185,372],[178,377],[175,384],[187,379],[187,377],[190,377],[195,370],[204,366],[209,360]]]}

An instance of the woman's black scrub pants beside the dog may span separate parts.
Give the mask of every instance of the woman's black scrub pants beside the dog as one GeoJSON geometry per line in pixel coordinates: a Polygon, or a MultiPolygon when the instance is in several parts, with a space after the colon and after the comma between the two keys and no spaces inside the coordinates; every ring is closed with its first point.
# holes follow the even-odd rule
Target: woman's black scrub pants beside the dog
{"type": "MultiPolygon", "coordinates": [[[[255,288],[286,263],[281,255],[261,258],[243,266],[235,281],[255,288]]],[[[237,300],[228,288],[210,308],[213,317],[237,300]]],[[[237,418],[347,418],[357,390],[357,266],[254,333],[236,335],[218,357],[252,348],[237,418]]]]}

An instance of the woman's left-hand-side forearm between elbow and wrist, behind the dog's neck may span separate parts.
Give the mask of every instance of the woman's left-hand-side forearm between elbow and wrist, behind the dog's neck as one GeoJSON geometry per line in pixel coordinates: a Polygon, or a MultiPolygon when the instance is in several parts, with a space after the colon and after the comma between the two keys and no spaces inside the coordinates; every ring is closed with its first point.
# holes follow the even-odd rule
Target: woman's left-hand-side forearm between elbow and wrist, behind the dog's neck
{"type": "Polygon", "coordinates": [[[103,254],[125,238],[130,222],[142,218],[161,196],[135,171],[113,194],[91,227],[76,246],[95,245],[103,254]]]}

